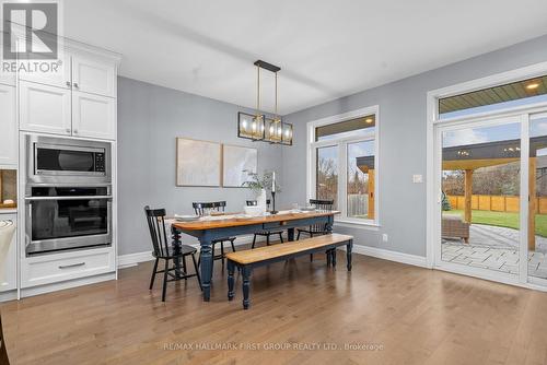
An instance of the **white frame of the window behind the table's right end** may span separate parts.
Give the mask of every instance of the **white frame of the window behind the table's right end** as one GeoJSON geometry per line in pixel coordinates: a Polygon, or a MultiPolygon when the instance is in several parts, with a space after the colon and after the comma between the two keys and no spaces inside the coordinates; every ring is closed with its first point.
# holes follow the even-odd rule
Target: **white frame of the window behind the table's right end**
{"type": "Polygon", "coordinates": [[[374,105],[344,114],[338,114],[323,119],[317,119],[307,122],[307,141],[306,141],[306,201],[316,198],[316,174],[317,174],[317,149],[326,146],[338,148],[338,190],[337,190],[337,209],[339,215],[335,215],[335,223],[363,225],[363,226],[380,226],[380,106],[374,105]],[[328,139],[324,141],[315,141],[315,128],[333,125],[350,119],[366,117],[374,115],[375,126],[374,131],[368,133],[359,133],[354,137],[345,137],[338,139],[328,139]],[[374,219],[359,219],[348,216],[348,144],[374,141],[374,219]]]}

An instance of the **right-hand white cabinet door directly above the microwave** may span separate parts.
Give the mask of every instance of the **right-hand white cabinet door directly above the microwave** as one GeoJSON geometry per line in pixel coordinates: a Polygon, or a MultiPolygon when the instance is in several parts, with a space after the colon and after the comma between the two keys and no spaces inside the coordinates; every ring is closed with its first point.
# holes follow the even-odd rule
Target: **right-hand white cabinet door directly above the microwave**
{"type": "Polygon", "coordinates": [[[72,92],[72,136],[115,139],[116,99],[72,92]]]}

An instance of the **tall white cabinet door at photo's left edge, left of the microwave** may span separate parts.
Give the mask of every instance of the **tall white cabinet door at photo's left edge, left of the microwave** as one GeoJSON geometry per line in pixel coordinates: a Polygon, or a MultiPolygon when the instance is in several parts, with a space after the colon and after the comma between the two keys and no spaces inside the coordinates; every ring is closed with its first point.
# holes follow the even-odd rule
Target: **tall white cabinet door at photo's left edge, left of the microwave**
{"type": "Polygon", "coordinates": [[[15,87],[0,84],[0,166],[18,165],[15,87]]]}

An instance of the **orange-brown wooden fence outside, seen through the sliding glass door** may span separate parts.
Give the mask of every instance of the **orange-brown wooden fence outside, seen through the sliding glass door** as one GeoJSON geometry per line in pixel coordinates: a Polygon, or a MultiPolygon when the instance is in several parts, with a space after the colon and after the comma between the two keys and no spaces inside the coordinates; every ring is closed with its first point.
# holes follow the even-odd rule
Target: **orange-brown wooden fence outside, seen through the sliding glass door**
{"type": "MultiPolygon", "coordinates": [[[[452,209],[464,210],[464,196],[449,196],[452,209]]],[[[513,196],[472,196],[472,209],[492,212],[519,212],[520,198],[513,196]]],[[[547,197],[536,198],[536,213],[547,214],[547,197]]]]}

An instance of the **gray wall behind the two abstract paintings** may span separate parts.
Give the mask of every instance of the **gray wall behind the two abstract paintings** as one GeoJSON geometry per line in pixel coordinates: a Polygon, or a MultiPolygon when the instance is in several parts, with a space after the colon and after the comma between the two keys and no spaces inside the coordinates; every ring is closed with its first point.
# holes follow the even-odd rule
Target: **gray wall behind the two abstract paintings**
{"type": "Polygon", "coordinates": [[[253,198],[243,188],[176,187],[175,137],[254,146],[259,170],[281,172],[281,146],[237,138],[238,110],[232,104],[118,78],[118,255],[151,250],[146,204],[184,214],[193,212],[193,201],[226,200],[229,211],[241,211],[253,198]]]}

